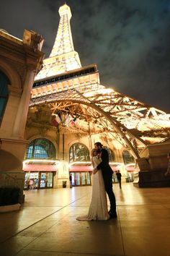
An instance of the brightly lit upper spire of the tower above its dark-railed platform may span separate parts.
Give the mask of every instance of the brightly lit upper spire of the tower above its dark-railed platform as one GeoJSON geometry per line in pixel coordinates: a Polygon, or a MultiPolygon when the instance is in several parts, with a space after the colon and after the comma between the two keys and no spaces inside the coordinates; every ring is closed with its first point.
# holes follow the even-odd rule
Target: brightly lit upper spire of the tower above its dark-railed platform
{"type": "Polygon", "coordinates": [[[53,49],[50,57],[43,62],[43,68],[37,74],[35,80],[45,77],[51,77],[55,74],[61,74],[73,69],[79,69],[81,62],[79,54],[74,51],[73,38],[71,34],[71,9],[65,3],[58,10],[60,14],[60,22],[58,25],[58,33],[55,38],[53,49]]]}

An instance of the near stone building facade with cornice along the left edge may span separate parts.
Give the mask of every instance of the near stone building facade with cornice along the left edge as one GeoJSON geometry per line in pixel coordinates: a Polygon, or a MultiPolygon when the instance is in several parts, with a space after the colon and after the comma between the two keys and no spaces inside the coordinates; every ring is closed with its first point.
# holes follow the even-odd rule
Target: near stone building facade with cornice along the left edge
{"type": "MultiPolygon", "coordinates": [[[[23,40],[0,30],[0,186],[23,191],[24,129],[35,75],[42,67],[43,39],[24,30],[23,40]]],[[[23,201],[23,195],[21,195],[23,201]]]]}

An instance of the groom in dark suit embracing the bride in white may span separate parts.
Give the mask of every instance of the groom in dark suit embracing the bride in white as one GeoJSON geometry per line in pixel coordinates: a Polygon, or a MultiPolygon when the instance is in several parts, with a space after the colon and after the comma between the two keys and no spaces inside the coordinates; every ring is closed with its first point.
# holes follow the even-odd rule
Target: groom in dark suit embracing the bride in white
{"type": "Polygon", "coordinates": [[[97,170],[102,170],[102,176],[104,179],[104,187],[109,197],[110,202],[110,210],[109,210],[109,218],[117,218],[116,213],[116,200],[115,194],[112,191],[112,168],[109,166],[109,154],[106,149],[102,148],[101,142],[94,143],[94,147],[96,149],[102,150],[102,162],[97,166],[97,170]]]}

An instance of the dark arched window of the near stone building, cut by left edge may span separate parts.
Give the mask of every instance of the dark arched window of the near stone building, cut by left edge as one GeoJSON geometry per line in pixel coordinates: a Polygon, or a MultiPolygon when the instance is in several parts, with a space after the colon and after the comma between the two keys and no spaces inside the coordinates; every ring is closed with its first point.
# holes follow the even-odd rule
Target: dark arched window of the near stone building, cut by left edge
{"type": "Polygon", "coordinates": [[[6,75],[0,71],[0,124],[2,117],[4,116],[4,111],[6,107],[6,103],[8,101],[9,91],[8,85],[9,80],[6,75]]]}

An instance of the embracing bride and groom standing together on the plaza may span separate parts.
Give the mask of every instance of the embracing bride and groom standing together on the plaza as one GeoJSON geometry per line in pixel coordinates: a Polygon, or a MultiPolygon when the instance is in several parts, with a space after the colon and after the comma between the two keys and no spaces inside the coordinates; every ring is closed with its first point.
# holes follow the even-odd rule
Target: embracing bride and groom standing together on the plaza
{"type": "Polygon", "coordinates": [[[117,218],[116,200],[112,191],[112,168],[109,166],[109,155],[102,148],[101,142],[94,143],[91,151],[93,169],[92,195],[89,212],[86,216],[79,216],[78,221],[108,220],[117,218]],[[110,202],[110,210],[107,210],[107,195],[110,202]]]}

